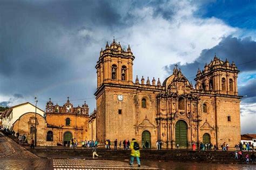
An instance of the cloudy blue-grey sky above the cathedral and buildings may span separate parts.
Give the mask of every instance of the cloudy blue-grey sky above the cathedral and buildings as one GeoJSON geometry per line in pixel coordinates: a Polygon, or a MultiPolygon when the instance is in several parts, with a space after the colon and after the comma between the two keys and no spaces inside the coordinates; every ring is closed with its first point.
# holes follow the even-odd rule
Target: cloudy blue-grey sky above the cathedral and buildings
{"type": "MultiPolygon", "coordinates": [[[[178,63],[193,80],[214,56],[234,61],[241,132],[255,133],[255,1],[0,1],[0,105],[95,108],[95,65],[113,36],[130,44],[134,75],[160,78],[178,63]]],[[[135,78],[135,77],[134,77],[135,78]]]]}

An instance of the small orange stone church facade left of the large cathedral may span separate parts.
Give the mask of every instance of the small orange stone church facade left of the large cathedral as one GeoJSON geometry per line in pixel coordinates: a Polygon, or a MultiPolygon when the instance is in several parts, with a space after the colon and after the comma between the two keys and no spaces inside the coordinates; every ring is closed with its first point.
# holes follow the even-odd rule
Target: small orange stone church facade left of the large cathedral
{"type": "Polygon", "coordinates": [[[54,144],[68,146],[72,138],[78,142],[89,139],[89,107],[86,103],[82,107],[73,107],[68,98],[63,106],[59,106],[53,105],[50,99],[45,114],[48,124],[46,133],[53,133],[54,144]]]}

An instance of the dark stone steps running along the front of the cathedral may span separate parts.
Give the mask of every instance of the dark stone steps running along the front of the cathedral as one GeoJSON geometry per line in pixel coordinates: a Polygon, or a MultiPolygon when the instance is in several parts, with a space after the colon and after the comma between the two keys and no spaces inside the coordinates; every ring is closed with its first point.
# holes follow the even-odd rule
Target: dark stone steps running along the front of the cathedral
{"type": "MultiPolygon", "coordinates": [[[[92,157],[91,149],[28,149],[30,152],[37,154],[39,157],[47,158],[69,158],[69,157],[79,157],[90,159],[92,157]]],[[[124,160],[129,159],[129,150],[106,150],[104,148],[97,149],[97,153],[101,156],[99,159],[109,159],[109,160],[124,160]]],[[[245,155],[249,155],[252,152],[243,152],[245,155]]],[[[221,163],[221,164],[242,164],[245,163],[245,158],[241,160],[234,159],[234,152],[222,152],[222,151],[190,151],[186,149],[173,149],[173,150],[141,150],[140,157],[142,160],[162,160],[162,161],[188,161],[188,162],[207,162],[207,163],[221,163]]],[[[255,163],[253,163],[255,164],[255,163]]]]}

